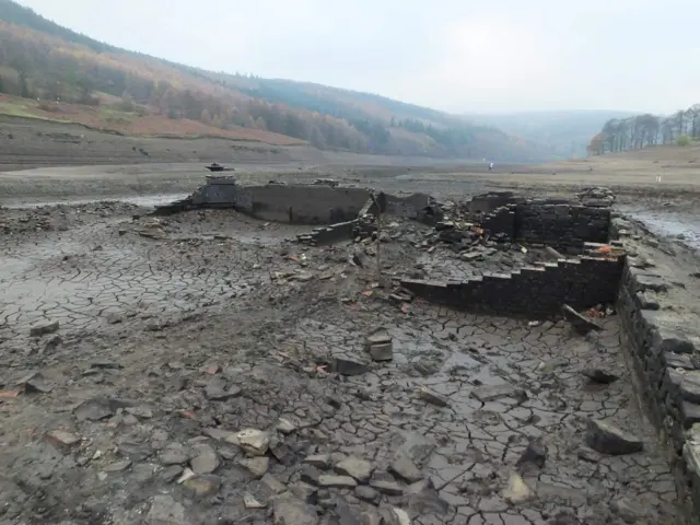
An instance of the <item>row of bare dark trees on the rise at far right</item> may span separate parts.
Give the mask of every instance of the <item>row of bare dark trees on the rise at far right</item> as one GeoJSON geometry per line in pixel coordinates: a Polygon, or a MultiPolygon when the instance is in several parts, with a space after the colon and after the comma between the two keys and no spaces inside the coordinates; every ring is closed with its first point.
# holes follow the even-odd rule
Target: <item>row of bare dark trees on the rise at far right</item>
{"type": "Polygon", "coordinates": [[[700,104],[695,104],[669,116],[646,113],[629,118],[612,118],[591,139],[588,154],[602,155],[656,144],[687,145],[692,139],[698,138],[700,104]]]}

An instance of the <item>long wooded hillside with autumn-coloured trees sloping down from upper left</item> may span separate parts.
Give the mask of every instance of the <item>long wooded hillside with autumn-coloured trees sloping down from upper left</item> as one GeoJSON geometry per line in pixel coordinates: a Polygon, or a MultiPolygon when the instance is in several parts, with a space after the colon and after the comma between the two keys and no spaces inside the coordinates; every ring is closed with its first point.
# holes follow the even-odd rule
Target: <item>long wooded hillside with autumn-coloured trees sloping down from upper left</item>
{"type": "Polygon", "coordinates": [[[376,95],[215,73],[119,49],[11,0],[0,0],[0,93],[11,107],[5,114],[127,133],[233,136],[392,155],[550,156],[493,127],[376,95]]]}

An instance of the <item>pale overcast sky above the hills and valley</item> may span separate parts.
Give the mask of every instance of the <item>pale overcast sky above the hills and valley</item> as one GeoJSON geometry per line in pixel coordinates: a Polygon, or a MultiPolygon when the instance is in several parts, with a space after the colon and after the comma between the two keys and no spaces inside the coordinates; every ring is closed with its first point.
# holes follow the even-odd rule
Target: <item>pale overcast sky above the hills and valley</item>
{"type": "Polygon", "coordinates": [[[698,0],[20,0],[119,47],[448,112],[700,102],[698,0]]]}

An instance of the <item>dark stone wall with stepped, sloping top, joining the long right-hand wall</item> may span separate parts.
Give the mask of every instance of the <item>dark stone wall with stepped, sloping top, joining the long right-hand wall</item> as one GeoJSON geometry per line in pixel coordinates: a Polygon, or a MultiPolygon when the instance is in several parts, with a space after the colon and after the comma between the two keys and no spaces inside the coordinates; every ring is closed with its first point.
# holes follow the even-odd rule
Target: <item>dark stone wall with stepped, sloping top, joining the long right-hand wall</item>
{"type": "Polygon", "coordinates": [[[622,258],[581,257],[462,282],[401,284],[429,301],[474,313],[549,318],[560,315],[564,304],[583,310],[614,303],[621,269],[622,258]]]}

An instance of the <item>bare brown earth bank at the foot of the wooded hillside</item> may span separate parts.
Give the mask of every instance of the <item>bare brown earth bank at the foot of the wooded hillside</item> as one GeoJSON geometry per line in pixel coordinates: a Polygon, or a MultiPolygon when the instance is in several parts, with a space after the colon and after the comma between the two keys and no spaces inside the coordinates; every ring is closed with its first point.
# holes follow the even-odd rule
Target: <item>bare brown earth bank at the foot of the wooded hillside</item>
{"type": "MultiPolygon", "coordinates": [[[[0,115],[0,172],[44,166],[86,166],[107,164],[201,163],[224,164],[254,162],[279,165],[347,164],[411,165],[452,163],[408,156],[383,156],[318,150],[307,144],[273,140],[246,140],[236,137],[180,137],[160,135],[125,136],[36,118],[0,115]]],[[[273,138],[287,139],[284,136],[273,138]]]]}

